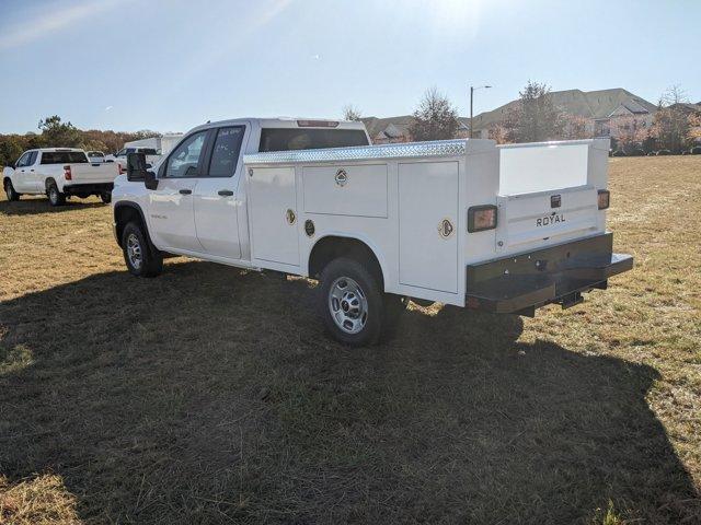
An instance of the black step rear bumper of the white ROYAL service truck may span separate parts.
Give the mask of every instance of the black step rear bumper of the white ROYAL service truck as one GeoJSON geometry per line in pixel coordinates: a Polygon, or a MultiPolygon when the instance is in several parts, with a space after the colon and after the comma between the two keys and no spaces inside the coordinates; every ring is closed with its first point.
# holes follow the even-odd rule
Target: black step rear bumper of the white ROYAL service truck
{"type": "Polygon", "coordinates": [[[610,233],[467,268],[466,306],[501,314],[532,315],[550,303],[563,307],[582,293],[605,290],[608,278],[633,268],[633,257],[612,253],[610,233]]]}

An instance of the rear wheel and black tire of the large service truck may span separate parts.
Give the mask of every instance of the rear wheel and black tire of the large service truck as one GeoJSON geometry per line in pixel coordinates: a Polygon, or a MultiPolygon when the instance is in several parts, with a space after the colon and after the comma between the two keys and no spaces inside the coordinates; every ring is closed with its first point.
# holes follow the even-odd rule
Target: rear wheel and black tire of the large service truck
{"type": "Polygon", "coordinates": [[[320,281],[319,308],[329,334],[353,347],[377,343],[389,320],[378,279],[357,260],[338,258],[326,265],[320,281]]]}

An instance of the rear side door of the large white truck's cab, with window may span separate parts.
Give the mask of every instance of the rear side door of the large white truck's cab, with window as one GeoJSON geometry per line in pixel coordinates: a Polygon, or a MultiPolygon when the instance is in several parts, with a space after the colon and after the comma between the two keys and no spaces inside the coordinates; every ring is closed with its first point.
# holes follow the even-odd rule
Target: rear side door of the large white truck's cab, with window
{"type": "Polygon", "coordinates": [[[230,259],[241,258],[239,211],[245,205],[238,192],[241,145],[245,126],[211,130],[210,151],[194,194],[195,230],[204,252],[230,259]]]}

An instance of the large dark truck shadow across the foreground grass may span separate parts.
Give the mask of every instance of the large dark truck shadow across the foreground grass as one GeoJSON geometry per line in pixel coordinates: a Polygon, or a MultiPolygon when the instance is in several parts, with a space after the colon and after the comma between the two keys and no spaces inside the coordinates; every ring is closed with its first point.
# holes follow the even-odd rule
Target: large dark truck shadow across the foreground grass
{"type": "Polygon", "coordinates": [[[698,517],[655,370],[455,310],[348,349],[313,294],[187,262],[0,304],[0,474],[60,475],[89,523],[698,517]]]}

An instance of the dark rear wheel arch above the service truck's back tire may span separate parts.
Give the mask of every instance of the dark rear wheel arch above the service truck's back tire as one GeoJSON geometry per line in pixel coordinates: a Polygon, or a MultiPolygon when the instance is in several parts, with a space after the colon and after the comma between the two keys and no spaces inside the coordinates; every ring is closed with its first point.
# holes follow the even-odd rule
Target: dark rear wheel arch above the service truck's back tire
{"type": "Polygon", "coordinates": [[[381,290],[384,290],[384,270],[375,250],[357,237],[342,235],[326,235],[321,237],[311,248],[308,260],[308,275],[319,279],[323,269],[334,259],[349,258],[363,264],[377,279],[381,290]]]}

